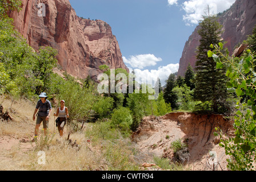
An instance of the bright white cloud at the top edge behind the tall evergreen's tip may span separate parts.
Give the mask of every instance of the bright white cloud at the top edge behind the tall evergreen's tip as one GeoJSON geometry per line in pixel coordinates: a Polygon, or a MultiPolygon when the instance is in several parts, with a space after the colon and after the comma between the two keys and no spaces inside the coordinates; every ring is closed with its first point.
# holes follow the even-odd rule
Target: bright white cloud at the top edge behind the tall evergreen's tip
{"type": "MultiPolygon", "coordinates": [[[[170,0],[170,2],[173,1],[174,0],[170,0]]],[[[174,5],[170,2],[168,1],[169,5],[174,5]]],[[[207,6],[210,7],[210,14],[213,15],[229,9],[234,2],[235,0],[188,0],[183,2],[180,6],[185,11],[183,20],[186,22],[186,25],[190,26],[192,24],[198,24],[199,20],[202,19],[202,15],[207,15],[207,6]]]]}

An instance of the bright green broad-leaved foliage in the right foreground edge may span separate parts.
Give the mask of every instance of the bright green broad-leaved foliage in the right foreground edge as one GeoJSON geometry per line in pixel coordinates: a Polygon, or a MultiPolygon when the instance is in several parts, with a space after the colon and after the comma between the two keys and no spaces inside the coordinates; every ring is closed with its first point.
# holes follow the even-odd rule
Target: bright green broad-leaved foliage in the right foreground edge
{"type": "Polygon", "coordinates": [[[256,147],[256,59],[255,53],[247,50],[247,55],[241,59],[229,57],[229,51],[222,53],[223,44],[211,47],[214,51],[209,51],[209,57],[217,63],[217,68],[226,66],[226,76],[230,78],[227,87],[230,92],[235,92],[237,96],[248,96],[247,102],[242,104],[242,108],[237,103],[239,109],[234,117],[234,138],[223,138],[222,131],[220,146],[225,147],[226,155],[230,155],[228,167],[232,170],[251,170],[255,162],[256,147]],[[221,60],[221,58],[224,60],[221,60]]]}

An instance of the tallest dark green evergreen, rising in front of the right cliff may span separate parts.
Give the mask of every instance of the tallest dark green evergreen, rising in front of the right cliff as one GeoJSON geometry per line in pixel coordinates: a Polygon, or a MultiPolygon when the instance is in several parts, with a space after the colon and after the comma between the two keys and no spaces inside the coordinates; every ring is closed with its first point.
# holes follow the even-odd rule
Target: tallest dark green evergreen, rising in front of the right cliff
{"type": "Polygon", "coordinates": [[[210,48],[211,44],[221,42],[221,24],[215,16],[209,15],[203,18],[198,30],[201,39],[195,64],[197,68],[194,97],[202,102],[211,102],[213,111],[218,112],[218,101],[227,97],[225,70],[216,69],[216,63],[212,57],[208,57],[207,51],[213,51],[213,48],[210,48]]]}

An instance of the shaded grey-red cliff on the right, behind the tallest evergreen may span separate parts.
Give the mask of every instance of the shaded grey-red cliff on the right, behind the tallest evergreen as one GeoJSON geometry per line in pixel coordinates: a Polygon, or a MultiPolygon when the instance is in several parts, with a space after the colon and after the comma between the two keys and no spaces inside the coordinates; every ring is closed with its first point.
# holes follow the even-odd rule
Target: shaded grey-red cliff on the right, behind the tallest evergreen
{"type": "MultiPolygon", "coordinates": [[[[230,56],[233,53],[235,46],[246,40],[247,35],[250,35],[256,24],[256,1],[237,0],[219,16],[219,22],[223,25],[222,38],[226,42],[225,47],[229,49],[230,56]]],[[[199,46],[200,36],[197,31],[199,26],[190,35],[182,52],[182,57],[179,60],[178,76],[184,76],[187,65],[195,68],[197,47],[199,46]]]]}

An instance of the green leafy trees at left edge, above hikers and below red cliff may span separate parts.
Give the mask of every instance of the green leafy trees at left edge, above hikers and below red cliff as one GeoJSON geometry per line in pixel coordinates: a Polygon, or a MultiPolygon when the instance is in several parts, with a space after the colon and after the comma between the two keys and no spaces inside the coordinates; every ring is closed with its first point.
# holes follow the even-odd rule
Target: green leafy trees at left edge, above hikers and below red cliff
{"type": "MultiPolygon", "coordinates": [[[[41,92],[51,92],[50,85],[57,51],[46,47],[35,52],[12,25],[13,20],[0,21],[0,61],[9,75],[14,96],[31,98],[41,92]]],[[[11,88],[9,88],[11,89],[11,88]]]]}

